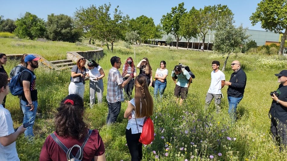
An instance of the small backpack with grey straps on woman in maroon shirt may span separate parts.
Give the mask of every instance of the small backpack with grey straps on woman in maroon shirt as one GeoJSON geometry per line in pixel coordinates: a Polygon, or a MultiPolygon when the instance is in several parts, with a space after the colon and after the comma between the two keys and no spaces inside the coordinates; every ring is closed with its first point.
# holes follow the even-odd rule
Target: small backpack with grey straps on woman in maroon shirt
{"type": "Polygon", "coordinates": [[[73,147],[71,147],[70,149],[68,149],[57,137],[54,133],[50,134],[51,137],[53,138],[53,140],[64,150],[64,152],[67,154],[67,160],[68,161],[80,161],[82,160],[83,158],[83,150],[84,150],[84,147],[87,143],[87,141],[89,140],[89,137],[91,136],[92,134],[92,131],[91,129],[89,129],[89,133],[85,136],[85,140],[83,142],[83,144],[81,146],[79,145],[74,145],[73,147]],[[76,156],[74,156],[71,151],[74,147],[78,147],[79,150],[76,154],[76,156]]]}

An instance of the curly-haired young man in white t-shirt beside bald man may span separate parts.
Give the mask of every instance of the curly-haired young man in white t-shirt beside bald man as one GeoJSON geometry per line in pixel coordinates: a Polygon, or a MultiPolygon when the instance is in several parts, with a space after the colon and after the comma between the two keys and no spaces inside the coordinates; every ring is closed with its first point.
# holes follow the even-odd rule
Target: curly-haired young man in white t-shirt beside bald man
{"type": "Polygon", "coordinates": [[[221,103],[222,97],[221,89],[224,87],[225,75],[222,71],[218,69],[220,66],[220,63],[218,61],[215,60],[211,64],[213,71],[211,71],[211,83],[205,97],[205,111],[207,110],[211,100],[214,98],[216,112],[219,113],[219,105],[221,103]]]}

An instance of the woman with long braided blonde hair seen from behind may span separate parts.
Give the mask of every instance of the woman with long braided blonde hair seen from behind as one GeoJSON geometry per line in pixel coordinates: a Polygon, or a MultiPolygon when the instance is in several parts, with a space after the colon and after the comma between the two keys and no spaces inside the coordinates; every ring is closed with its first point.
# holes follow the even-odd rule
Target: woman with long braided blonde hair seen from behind
{"type": "Polygon", "coordinates": [[[124,112],[124,118],[128,118],[126,128],[127,146],[131,153],[131,160],[141,160],[142,145],[139,142],[140,134],[146,117],[153,115],[153,98],[147,87],[147,80],[139,75],[134,79],[135,96],[124,112]]]}

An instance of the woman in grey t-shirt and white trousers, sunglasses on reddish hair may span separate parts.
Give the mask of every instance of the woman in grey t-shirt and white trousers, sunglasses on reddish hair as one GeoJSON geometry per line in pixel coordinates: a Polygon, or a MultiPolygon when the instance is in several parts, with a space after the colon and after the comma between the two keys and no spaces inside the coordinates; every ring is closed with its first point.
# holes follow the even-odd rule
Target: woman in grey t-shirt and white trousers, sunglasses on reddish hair
{"type": "Polygon", "coordinates": [[[71,70],[71,83],[69,84],[69,95],[77,94],[84,98],[85,77],[88,76],[85,68],[86,59],[80,58],[71,70]]]}

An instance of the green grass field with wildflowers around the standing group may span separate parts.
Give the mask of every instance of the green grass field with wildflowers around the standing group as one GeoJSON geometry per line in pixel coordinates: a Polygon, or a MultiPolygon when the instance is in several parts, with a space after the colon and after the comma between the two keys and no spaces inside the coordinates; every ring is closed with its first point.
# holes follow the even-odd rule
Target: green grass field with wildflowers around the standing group
{"type": "MultiPolygon", "coordinates": [[[[98,41],[96,43],[99,45],[98,41]]],[[[0,44],[6,44],[4,48],[0,49],[0,52],[43,54],[48,60],[64,59],[66,51],[84,50],[84,48],[77,49],[79,46],[75,46],[73,43],[43,43],[8,38],[0,39],[0,44]],[[11,45],[17,43],[27,43],[29,44],[27,46],[33,47],[11,45]]],[[[104,52],[105,57],[98,62],[106,74],[103,78],[104,103],[94,106],[93,109],[89,108],[89,84],[86,84],[84,95],[85,121],[90,125],[89,128],[96,128],[100,131],[105,143],[107,160],[130,160],[125,140],[127,119],[123,117],[127,103],[122,103],[118,123],[106,126],[105,119],[108,106],[105,96],[107,75],[111,68],[110,58],[117,55],[124,62],[129,56],[134,58],[134,53],[133,49],[124,48],[121,42],[115,43],[114,52],[109,52],[106,48],[104,48],[104,52]]],[[[244,97],[237,108],[239,120],[232,125],[227,113],[227,87],[222,90],[225,98],[221,103],[221,113],[216,114],[213,101],[208,112],[204,112],[205,95],[211,79],[211,62],[218,60],[223,65],[225,58],[222,55],[192,50],[171,49],[169,51],[167,48],[147,46],[136,46],[136,54],[135,64],[143,57],[147,57],[153,71],[156,71],[156,68],[160,67],[160,61],[165,60],[169,70],[164,99],[162,102],[154,102],[152,119],[155,126],[155,140],[152,144],[143,147],[143,160],[158,160],[157,157],[159,160],[208,160],[212,156],[216,160],[286,159],[286,151],[280,153],[279,146],[272,141],[269,134],[270,120],[268,118],[268,111],[272,102],[269,93],[276,90],[279,85],[274,74],[286,69],[287,61],[285,58],[263,57],[262,55],[231,55],[224,72],[226,80],[229,80],[232,73],[230,64],[233,60],[239,60],[247,74],[244,97]],[[274,61],[277,63],[272,63],[274,61]],[[189,88],[188,98],[182,106],[175,102],[173,97],[175,84],[170,77],[171,71],[178,63],[189,65],[196,76],[189,88]],[[230,137],[231,140],[228,140],[227,137],[230,137]]],[[[15,61],[8,61],[5,65],[6,71],[9,72],[16,64],[15,61]]],[[[44,140],[54,130],[53,118],[56,108],[68,94],[69,70],[52,71],[40,65],[35,74],[39,98],[38,112],[41,115],[35,121],[34,132],[36,137],[34,141],[27,142],[23,135],[16,141],[21,160],[39,160],[44,140]]],[[[149,89],[153,95],[153,88],[149,87],[149,89]]],[[[6,107],[11,112],[15,127],[21,124],[23,117],[18,101],[16,96],[9,94],[6,102],[6,107]]]]}

